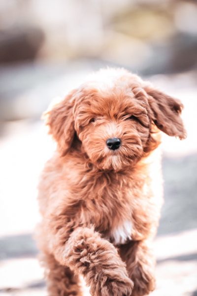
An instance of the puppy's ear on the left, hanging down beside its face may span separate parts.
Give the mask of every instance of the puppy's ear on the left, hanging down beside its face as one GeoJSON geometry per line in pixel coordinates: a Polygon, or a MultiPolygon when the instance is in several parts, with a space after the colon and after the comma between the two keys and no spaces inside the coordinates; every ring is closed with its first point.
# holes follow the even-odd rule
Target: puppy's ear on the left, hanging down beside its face
{"type": "Polygon", "coordinates": [[[72,97],[75,92],[75,90],[70,92],[63,101],[47,110],[43,115],[46,125],[49,127],[49,134],[56,140],[57,148],[62,156],[66,155],[74,138],[74,100],[72,97]]]}

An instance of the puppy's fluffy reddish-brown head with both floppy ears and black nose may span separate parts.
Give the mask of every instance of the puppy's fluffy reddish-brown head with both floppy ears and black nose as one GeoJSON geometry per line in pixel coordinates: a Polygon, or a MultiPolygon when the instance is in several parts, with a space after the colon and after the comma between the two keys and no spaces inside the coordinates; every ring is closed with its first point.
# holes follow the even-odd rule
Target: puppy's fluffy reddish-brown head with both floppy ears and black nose
{"type": "Polygon", "coordinates": [[[157,147],[153,129],[184,139],[182,104],[122,69],[106,69],[47,112],[47,125],[64,156],[81,149],[101,170],[131,166],[157,147]],[[75,140],[74,140],[75,139],[75,140]]]}

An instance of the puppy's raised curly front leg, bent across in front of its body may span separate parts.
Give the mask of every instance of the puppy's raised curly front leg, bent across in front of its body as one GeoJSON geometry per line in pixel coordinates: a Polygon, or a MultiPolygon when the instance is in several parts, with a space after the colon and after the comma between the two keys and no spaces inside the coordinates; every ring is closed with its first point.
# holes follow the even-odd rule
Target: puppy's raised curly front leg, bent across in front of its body
{"type": "Polygon", "coordinates": [[[94,296],[131,296],[133,282],[116,248],[93,228],[78,227],[56,259],[81,273],[94,296]]]}

